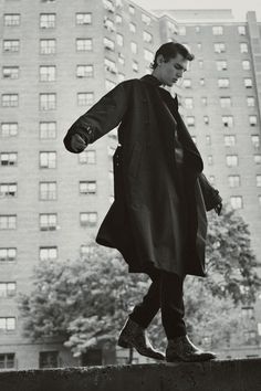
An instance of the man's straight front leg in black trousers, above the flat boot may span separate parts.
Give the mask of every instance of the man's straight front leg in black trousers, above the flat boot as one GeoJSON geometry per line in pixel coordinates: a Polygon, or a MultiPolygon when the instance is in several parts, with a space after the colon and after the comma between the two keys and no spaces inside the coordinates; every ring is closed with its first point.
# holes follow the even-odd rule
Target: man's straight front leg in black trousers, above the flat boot
{"type": "Polygon", "coordinates": [[[160,306],[163,326],[168,339],[186,335],[184,321],[184,278],[160,271],[160,306]]]}

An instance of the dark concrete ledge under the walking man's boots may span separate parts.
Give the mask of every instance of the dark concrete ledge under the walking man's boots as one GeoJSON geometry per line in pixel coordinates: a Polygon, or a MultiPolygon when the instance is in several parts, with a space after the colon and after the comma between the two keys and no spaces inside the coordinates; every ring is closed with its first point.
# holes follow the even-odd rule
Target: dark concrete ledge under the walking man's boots
{"type": "Polygon", "coordinates": [[[261,359],[4,371],[1,391],[260,391],[261,359]]]}

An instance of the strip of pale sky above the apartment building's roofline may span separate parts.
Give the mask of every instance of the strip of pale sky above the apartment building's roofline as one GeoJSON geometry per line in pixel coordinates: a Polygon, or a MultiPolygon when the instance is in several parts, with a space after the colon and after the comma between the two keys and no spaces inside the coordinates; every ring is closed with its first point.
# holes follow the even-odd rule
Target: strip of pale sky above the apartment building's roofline
{"type": "Polygon", "coordinates": [[[134,0],[146,10],[152,9],[231,9],[237,21],[246,21],[248,11],[255,11],[261,22],[260,0],[134,0]]]}

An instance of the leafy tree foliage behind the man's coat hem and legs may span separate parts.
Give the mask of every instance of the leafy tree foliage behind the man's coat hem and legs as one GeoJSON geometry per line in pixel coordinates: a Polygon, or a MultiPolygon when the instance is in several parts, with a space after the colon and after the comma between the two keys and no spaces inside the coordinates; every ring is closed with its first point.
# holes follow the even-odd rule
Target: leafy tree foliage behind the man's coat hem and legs
{"type": "MultiPolygon", "coordinates": [[[[75,356],[98,338],[115,341],[150,284],[144,274],[128,274],[117,251],[94,241],[91,249],[85,258],[41,263],[32,292],[20,298],[25,332],[35,339],[62,336],[75,356]]],[[[240,339],[240,305],[253,303],[260,288],[248,226],[236,211],[223,205],[219,216],[209,214],[206,253],[208,277],[185,281],[185,320],[199,344],[211,335],[220,347],[231,336],[240,339]]],[[[157,347],[165,346],[160,311],[149,334],[157,347]]]]}

